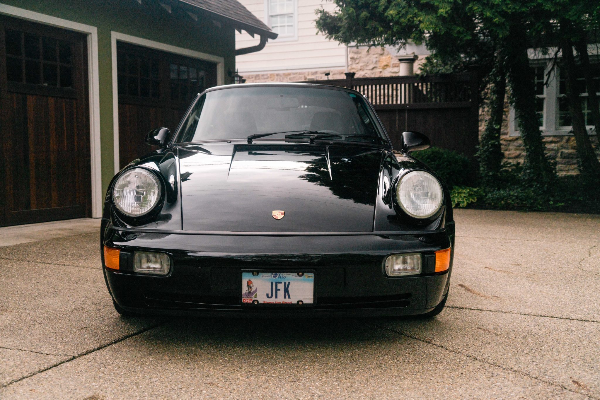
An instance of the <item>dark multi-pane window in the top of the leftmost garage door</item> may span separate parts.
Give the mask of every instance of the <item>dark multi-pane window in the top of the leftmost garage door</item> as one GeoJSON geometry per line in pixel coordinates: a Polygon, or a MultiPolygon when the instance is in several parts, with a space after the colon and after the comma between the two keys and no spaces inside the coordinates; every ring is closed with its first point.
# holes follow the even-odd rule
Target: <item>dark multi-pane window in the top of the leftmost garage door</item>
{"type": "Polygon", "coordinates": [[[71,43],[7,29],[5,48],[8,81],[73,87],[71,43]]]}

